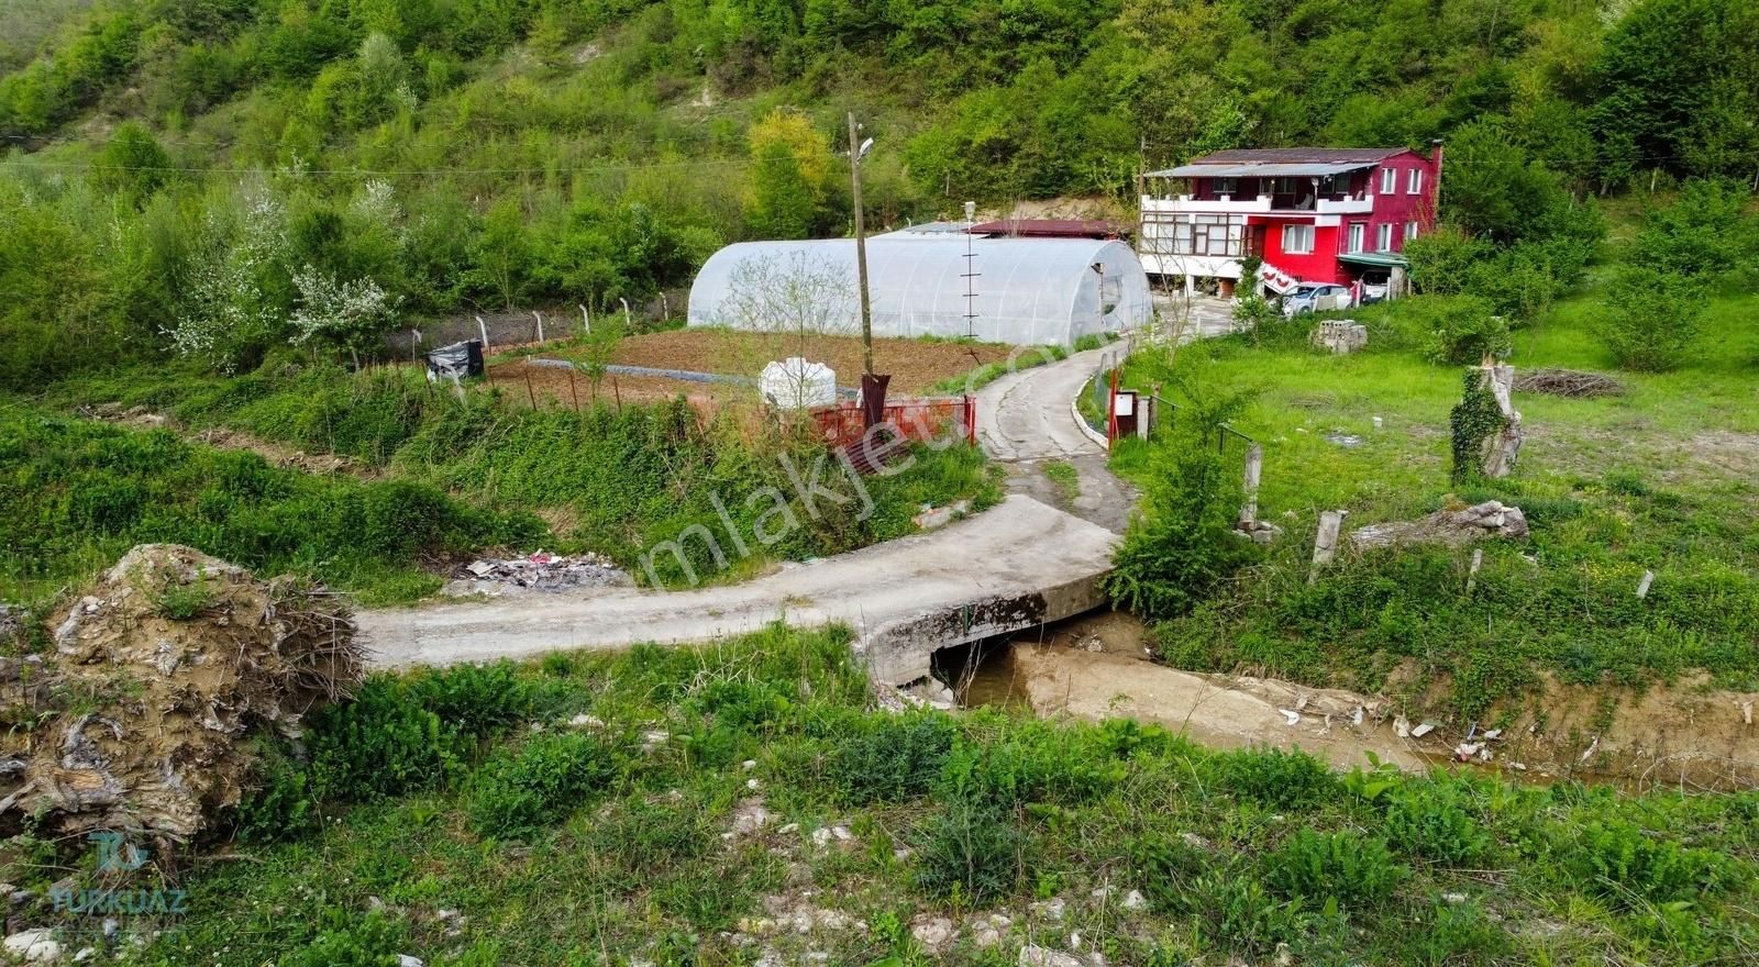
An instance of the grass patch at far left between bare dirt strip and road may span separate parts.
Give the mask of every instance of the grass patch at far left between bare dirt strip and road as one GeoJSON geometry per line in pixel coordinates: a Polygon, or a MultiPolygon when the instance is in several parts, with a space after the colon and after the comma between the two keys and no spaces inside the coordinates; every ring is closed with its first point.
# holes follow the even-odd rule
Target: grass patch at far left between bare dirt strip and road
{"type": "MultiPolygon", "coordinates": [[[[264,577],[299,571],[366,603],[431,594],[422,564],[544,536],[531,515],[478,510],[406,482],[273,468],[246,452],[33,410],[0,411],[0,598],[76,589],[135,543],[185,543],[264,577]]],[[[167,600],[192,617],[199,600],[167,600]]]]}

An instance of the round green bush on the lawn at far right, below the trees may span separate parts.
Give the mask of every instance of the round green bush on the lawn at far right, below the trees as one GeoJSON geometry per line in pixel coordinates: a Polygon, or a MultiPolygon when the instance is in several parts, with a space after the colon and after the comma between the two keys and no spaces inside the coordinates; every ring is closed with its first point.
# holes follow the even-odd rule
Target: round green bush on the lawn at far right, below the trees
{"type": "Polygon", "coordinates": [[[1685,359],[1703,315],[1704,294],[1696,281],[1627,265],[1608,288],[1595,329],[1620,367],[1664,373],[1685,359]]]}

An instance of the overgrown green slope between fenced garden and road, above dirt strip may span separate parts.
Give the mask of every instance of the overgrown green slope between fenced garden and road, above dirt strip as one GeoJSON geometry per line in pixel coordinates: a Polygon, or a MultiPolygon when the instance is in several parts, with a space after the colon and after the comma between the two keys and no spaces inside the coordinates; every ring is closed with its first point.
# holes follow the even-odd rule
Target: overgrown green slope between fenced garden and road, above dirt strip
{"type": "MultiPolygon", "coordinates": [[[[804,433],[783,433],[734,415],[704,420],[682,399],[616,410],[605,403],[584,413],[535,411],[507,404],[493,387],[471,387],[459,401],[431,389],[413,369],[347,373],[336,366],[278,359],[257,373],[220,378],[178,366],[164,373],[67,382],[49,387],[33,406],[70,410],[91,403],[142,406],[188,427],[230,427],[310,454],[339,454],[470,505],[540,513],[554,531],[545,536],[552,550],[595,550],[639,575],[646,575],[651,549],[693,527],[693,533],[709,527],[730,545],[723,547],[725,559],[716,559],[705,542],[684,542],[690,568],[661,552],[654,557],[654,575],[665,584],[688,582],[691,570],[697,580],[730,580],[777,559],[851,550],[913,533],[911,515],[923,503],[941,506],[969,499],[982,510],[1001,496],[982,452],[969,447],[918,448],[906,471],[864,478],[857,491],[843,466],[827,459],[804,433]],[[811,480],[820,462],[820,478],[843,503],[834,506],[836,501],[821,499],[823,510],[814,513],[795,485],[795,473],[811,480]],[[797,522],[770,543],[755,540],[758,519],[776,506],[767,494],[781,494],[797,522]],[[734,554],[716,499],[744,534],[749,556],[734,554]]],[[[777,531],[776,520],[770,517],[765,524],[767,534],[777,531]]],[[[529,540],[542,534],[540,527],[528,533],[529,540]]],[[[288,540],[297,536],[299,527],[288,526],[288,540]]],[[[79,534],[51,529],[44,540],[72,545],[79,543],[79,534]]],[[[83,543],[86,550],[77,564],[19,559],[9,566],[46,568],[53,577],[44,575],[44,580],[60,580],[104,566],[99,547],[111,543],[83,543]]],[[[230,545],[209,540],[197,547],[218,552],[230,545]]],[[[287,554],[239,563],[253,561],[317,566],[315,557],[287,554]]],[[[403,600],[431,593],[438,582],[417,585],[408,580],[419,573],[412,571],[419,563],[413,557],[387,561],[396,573],[378,578],[385,591],[371,596],[403,600]]]]}

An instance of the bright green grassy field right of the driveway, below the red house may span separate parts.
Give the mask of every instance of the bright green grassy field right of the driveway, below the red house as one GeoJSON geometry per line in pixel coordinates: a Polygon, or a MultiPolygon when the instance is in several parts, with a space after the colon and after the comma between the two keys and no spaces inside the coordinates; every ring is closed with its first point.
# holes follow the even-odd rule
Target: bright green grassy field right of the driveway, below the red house
{"type": "MultiPolygon", "coordinates": [[[[1462,371],[1425,362],[1395,306],[1358,313],[1370,325],[1358,355],[1307,348],[1303,322],[1259,345],[1237,336],[1186,346],[1170,371],[1161,357],[1136,359],[1131,385],[1256,390],[1233,427],[1263,443],[1259,515],[1286,529],[1221,594],[1157,628],[1161,656],[1369,691],[1414,666],[1402,687],[1448,680],[1463,717],[1516,700],[1541,670],[1641,684],[1704,668],[1754,687],[1759,297],[1717,299],[1690,362],[1668,374],[1615,373],[1590,329],[1594,306],[1590,287],[1518,331],[1511,362],[1611,373],[1625,392],[1516,394],[1527,429],[1516,473],[1458,487],[1448,411],[1462,371]],[[1354,527],[1490,498],[1522,506],[1532,536],[1486,543],[1471,596],[1467,552],[1437,547],[1349,557],[1305,580],[1321,510],[1347,510],[1354,527]],[[1638,600],[1650,570],[1655,587],[1638,600]]],[[[1129,445],[1113,462],[1140,476],[1147,452],[1129,445]]]]}

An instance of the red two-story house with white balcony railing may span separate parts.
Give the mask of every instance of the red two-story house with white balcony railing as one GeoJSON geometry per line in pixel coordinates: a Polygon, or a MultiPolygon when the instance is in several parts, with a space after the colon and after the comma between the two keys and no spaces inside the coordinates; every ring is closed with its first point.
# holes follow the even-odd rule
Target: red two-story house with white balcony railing
{"type": "Polygon", "coordinates": [[[1136,251],[1149,274],[1187,294],[1244,285],[1288,292],[1302,281],[1351,285],[1404,278],[1409,239],[1435,227],[1441,142],[1407,148],[1217,151],[1147,176],[1136,251]]]}

